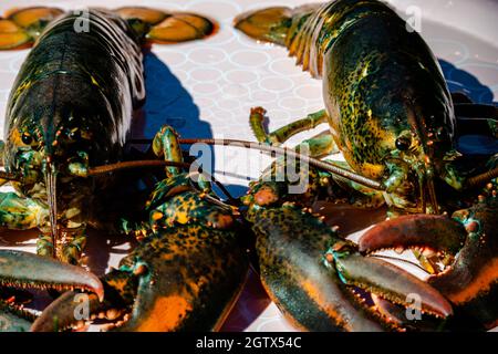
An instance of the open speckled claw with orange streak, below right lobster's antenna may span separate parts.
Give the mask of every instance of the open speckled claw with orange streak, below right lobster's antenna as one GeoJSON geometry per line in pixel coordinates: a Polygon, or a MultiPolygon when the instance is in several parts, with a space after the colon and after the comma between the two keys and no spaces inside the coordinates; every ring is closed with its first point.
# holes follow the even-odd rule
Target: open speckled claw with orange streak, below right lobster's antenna
{"type": "Polygon", "coordinates": [[[294,205],[258,210],[253,229],[263,285],[301,329],[383,330],[375,321],[382,315],[353,294],[357,288],[402,305],[408,305],[409,294],[416,293],[423,312],[440,317],[453,313],[430,285],[393,264],[362,257],[353,242],[294,205]]]}

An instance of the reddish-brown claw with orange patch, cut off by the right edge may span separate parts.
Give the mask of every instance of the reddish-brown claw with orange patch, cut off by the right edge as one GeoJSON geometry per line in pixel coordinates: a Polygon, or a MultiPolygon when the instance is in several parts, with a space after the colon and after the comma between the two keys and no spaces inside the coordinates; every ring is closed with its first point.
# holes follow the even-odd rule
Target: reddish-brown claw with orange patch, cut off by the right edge
{"type": "MultiPolygon", "coordinates": [[[[360,250],[429,248],[455,257],[429,284],[454,304],[457,313],[474,317],[486,329],[498,321],[498,204],[481,197],[471,208],[444,216],[404,216],[381,223],[360,240],[360,250]]],[[[456,313],[456,314],[457,314],[456,313]]]]}

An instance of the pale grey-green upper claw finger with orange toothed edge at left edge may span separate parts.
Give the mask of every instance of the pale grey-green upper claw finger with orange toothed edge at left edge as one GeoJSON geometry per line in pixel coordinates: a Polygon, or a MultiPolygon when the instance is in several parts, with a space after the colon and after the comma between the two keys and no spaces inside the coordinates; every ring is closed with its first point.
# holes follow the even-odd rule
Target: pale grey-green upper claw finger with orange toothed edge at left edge
{"type": "Polygon", "coordinates": [[[59,291],[81,289],[104,299],[101,280],[82,267],[17,250],[0,250],[0,284],[59,291]]]}

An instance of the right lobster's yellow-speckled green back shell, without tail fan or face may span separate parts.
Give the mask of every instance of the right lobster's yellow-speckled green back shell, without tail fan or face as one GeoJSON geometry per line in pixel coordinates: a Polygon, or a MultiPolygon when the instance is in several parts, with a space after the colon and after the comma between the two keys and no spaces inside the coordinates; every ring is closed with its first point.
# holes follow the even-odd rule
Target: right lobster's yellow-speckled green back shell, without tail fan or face
{"type": "Polygon", "coordinates": [[[395,140],[403,133],[412,135],[415,159],[427,156],[436,167],[454,148],[453,103],[437,60],[386,4],[297,9],[286,45],[323,76],[331,132],[356,171],[381,178],[385,162],[401,155],[395,140]]]}

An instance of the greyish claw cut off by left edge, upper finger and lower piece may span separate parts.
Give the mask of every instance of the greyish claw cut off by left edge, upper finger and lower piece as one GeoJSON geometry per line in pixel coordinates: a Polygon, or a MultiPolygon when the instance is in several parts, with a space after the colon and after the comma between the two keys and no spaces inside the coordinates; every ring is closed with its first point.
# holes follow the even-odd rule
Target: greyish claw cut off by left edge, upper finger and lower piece
{"type": "MultiPolygon", "coordinates": [[[[61,263],[33,253],[0,250],[0,285],[70,290],[82,289],[102,300],[104,290],[98,278],[81,267],[61,263]]],[[[0,301],[0,332],[28,331],[34,316],[15,305],[0,301]]]]}

